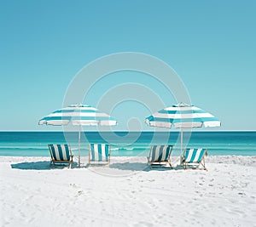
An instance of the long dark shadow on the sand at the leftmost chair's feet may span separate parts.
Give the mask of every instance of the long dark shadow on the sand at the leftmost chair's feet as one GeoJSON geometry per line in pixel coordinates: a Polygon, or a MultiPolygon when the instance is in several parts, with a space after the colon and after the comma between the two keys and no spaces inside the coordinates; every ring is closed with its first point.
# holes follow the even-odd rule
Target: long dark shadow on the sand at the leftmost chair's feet
{"type": "MultiPolygon", "coordinates": [[[[78,163],[74,162],[73,167],[77,167],[78,163]]],[[[68,166],[65,164],[60,164],[60,165],[51,165],[49,167],[49,162],[47,161],[42,161],[42,162],[20,162],[16,164],[11,164],[12,168],[16,169],[22,169],[22,170],[49,170],[49,169],[63,169],[67,168],[68,166]]]]}

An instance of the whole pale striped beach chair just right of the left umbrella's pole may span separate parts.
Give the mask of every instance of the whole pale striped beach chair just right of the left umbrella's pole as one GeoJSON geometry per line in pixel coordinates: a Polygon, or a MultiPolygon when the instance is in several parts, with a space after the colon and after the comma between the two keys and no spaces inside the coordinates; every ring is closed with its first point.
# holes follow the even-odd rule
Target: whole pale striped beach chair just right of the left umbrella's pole
{"type": "Polygon", "coordinates": [[[89,165],[108,165],[110,163],[110,145],[89,145],[89,165]]]}

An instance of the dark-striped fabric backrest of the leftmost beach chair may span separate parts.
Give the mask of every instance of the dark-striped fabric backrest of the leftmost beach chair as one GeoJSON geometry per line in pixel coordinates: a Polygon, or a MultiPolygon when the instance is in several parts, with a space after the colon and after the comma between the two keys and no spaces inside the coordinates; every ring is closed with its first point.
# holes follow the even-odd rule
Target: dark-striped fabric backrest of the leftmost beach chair
{"type": "Polygon", "coordinates": [[[69,145],[48,145],[50,156],[55,161],[70,161],[72,155],[69,145]]]}

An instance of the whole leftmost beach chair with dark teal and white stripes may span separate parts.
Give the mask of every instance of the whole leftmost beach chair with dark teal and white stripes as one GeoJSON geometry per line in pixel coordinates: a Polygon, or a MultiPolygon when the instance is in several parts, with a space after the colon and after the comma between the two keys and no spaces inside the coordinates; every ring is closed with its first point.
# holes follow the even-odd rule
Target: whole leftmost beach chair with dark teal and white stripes
{"type": "Polygon", "coordinates": [[[48,145],[51,160],[51,164],[68,164],[71,167],[73,164],[73,155],[69,145],[48,145]]]}

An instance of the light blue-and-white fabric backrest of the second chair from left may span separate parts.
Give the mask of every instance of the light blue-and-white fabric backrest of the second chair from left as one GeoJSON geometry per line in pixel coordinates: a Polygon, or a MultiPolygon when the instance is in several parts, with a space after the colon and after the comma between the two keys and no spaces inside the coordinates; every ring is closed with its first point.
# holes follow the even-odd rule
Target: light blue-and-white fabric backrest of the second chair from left
{"type": "Polygon", "coordinates": [[[108,162],[110,156],[110,145],[90,144],[90,161],[108,162]]]}

